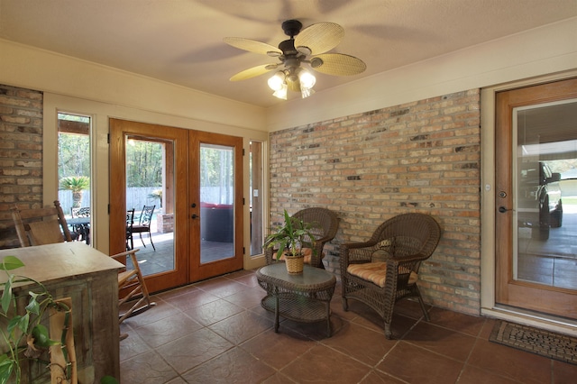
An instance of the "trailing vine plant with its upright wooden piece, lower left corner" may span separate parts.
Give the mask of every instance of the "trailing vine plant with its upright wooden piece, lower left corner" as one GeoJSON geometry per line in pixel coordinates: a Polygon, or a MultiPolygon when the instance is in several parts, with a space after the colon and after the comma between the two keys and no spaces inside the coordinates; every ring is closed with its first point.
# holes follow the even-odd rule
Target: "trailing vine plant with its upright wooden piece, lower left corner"
{"type": "MultiPolygon", "coordinates": [[[[5,352],[0,354],[0,384],[5,384],[14,378],[21,382],[23,360],[41,361],[50,348],[50,376],[62,383],[76,383],[76,358],[74,342],[70,328],[71,300],[64,298],[55,300],[41,282],[18,276],[10,270],[23,267],[23,262],[14,256],[6,256],[0,262],[0,270],[5,270],[7,279],[0,284],[3,288],[0,299],[0,316],[5,317],[5,327],[0,328],[5,352]],[[23,313],[18,313],[17,297],[14,285],[18,283],[34,283],[35,290],[28,291],[29,300],[23,313]],[[47,315],[50,312],[50,315],[47,315]],[[50,340],[49,329],[41,324],[48,317],[50,333],[60,329],[60,340],[50,340]]],[[[53,381],[54,382],[54,381],[53,381]]]]}

